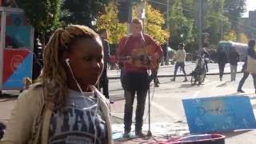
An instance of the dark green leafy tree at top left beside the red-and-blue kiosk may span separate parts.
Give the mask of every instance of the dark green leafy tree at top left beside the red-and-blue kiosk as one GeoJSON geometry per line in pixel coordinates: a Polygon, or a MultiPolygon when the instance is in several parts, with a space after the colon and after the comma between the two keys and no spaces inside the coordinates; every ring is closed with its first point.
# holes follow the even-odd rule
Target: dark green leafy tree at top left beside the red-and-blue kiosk
{"type": "Polygon", "coordinates": [[[34,38],[44,44],[51,32],[60,26],[61,0],[18,0],[17,3],[34,27],[34,38]]]}

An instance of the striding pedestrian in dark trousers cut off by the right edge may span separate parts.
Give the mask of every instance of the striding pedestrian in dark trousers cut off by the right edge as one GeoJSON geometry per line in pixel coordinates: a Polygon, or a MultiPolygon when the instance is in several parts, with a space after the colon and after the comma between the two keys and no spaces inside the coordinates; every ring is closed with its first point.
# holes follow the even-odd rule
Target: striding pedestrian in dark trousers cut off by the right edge
{"type": "Polygon", "coordinates": [[[247,56],[244,65],[242,66],[243,76],[238,85],[238,92],[244,93],[242,86],[249,74],[254,78],[254,89],[256,94],[256,52],[254,50],[255,40],[250,40],[248,42],[247,56]]]}

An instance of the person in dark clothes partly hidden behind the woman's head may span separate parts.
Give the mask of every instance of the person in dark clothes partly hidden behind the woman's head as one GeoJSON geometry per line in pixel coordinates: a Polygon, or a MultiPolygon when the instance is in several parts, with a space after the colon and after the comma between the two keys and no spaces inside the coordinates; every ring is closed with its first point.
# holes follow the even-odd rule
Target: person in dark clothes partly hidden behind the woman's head
{"type": "MultiPolygon", "coordinates": [[[[107,78],[107,65],[110,62],[110,45],[107,41],[108,33],[106,29],[99,30],[98,34],[102,39],[102,46],[104,52],[104,69],[102,71],[102,76],[99,81],[99,89],[102,88],[102,93],[106,98],[110,99],[109,94],[109,78],[107,78]]],[[[114,101],[110,101],[110,103],[114,103],[114,101]]]]}

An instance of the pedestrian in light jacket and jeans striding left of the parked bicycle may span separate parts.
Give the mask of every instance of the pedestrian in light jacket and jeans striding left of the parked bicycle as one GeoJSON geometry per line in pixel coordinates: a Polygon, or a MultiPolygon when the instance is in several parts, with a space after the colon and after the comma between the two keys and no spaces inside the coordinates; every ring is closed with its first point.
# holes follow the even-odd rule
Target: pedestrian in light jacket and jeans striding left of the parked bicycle
{"type": "Polygon", "coordinates": [[[174,78],[171,79],[171,81],[175,81],[178,67],[181,67],[181,70],[182,70],[183,74],[185,75],[185,79],[183,82],[187,82],[186,70],[185,70],[186,50],[184,50],[184,46],[185,46],[184,43],[178,44],[178,50],[174,56],[174,61],[176,61],[176,64],[174,67],[174,78]]]}

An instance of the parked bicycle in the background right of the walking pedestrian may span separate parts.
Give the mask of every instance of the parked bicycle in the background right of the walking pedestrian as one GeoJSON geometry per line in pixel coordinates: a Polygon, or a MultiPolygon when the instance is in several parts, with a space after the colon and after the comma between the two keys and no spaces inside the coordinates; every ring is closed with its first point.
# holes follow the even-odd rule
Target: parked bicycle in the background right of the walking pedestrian
{"type": "Polygon", "coordinates": [[[191,73],[191,85],[201,85],[206,78],[206,72],[208,71],[207,63],[209,61],[208,58],[204,58],[204,56],[197,56],[196,67],[191,73]]]}

